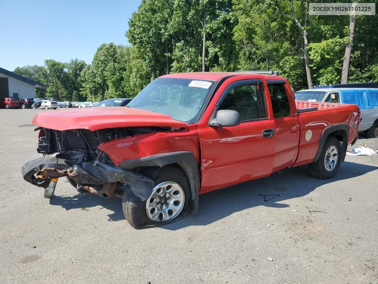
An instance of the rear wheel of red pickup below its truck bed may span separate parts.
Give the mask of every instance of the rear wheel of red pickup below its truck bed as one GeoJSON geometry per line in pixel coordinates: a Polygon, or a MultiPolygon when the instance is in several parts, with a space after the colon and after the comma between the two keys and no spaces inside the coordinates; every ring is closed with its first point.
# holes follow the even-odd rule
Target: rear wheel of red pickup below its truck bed
{"type": "Polygon", "coordinates": [[[310,174],[315,178],[333,178],[339,170],[341,157],[340,141],[334,136],[328,136],[318,161],[308,165],[310,174]]]}

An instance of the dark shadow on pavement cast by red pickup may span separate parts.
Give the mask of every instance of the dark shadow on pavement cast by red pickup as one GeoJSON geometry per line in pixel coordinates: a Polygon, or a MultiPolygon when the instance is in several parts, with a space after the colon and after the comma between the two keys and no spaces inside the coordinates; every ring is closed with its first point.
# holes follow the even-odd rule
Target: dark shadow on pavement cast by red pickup
{"type": "MultiPolygon", "coordinates": [[[[165,225],[162,228],[177,230],[187,226],[208,225],[234,212],[255,206],[285,208],[290,206],[291,198],[303,197],[324,184],[354,178],[376,169],[378,167],[343,162],[335,178],[327,180],[312,178],[308,174],[307,166],[288,169],[282,173],[274,173],[266,178],[240,183],[200,195],[200,208],[197,216],[188,215],[188,217],[165,225]],[[264,201],[264,199],[268,201],[264,201]],[[281,201],[286,202],[279,203],[281,201]]],[[[66,210],[75,208],[83,208],[85,210],[85,208],[100,205],[114,212],[108,215],[109,221],[124,220],[122,204],[119,198],[105,199],[90,193],[79,193],[74,196],[54,196],[50,200],[50,204],[62,206],[66,210]]],[[[88,212],[88,214],[90,213],[88,212]]]]}

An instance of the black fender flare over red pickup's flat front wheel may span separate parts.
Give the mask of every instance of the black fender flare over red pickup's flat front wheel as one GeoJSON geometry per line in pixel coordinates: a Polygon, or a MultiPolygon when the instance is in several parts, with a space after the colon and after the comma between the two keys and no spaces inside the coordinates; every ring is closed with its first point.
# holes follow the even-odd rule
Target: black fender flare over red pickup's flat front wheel
{"type": "Polygon", "coordinates": [[[144,158],[125,160],[121,162],[123,169],[139,167],[164,167],[170,164],[178,164],[186,174],[191,187],[190,211],[193,215],[198,212],[198,192],[200,191],[200,175],[198,162],[194,154],[189,151],[177,151],[171,153],[156,154],[144,158]]]}

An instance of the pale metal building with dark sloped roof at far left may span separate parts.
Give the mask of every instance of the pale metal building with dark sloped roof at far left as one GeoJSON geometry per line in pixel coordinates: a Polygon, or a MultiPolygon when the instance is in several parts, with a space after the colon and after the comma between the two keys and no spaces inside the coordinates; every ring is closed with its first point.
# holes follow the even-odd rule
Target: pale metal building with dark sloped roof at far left
{"type": "Polygon", "coordinates": [[[36,89],[45,85],[0,68],[0,98],[35,98],[36,89]]]}

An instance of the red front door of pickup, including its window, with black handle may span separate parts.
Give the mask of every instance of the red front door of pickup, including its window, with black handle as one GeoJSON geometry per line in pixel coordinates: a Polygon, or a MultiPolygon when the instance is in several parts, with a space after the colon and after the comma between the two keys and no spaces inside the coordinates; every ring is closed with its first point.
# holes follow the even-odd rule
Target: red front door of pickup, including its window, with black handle
{"type": "Polygon", "coordinates": [[[268,114],[263,82],[253,79],[231,83],[234,80],[226,80],[223,84],[228,87],[215,94],[214,99],[220,96],[215,107],[238,111],[240,125],[209,126],[210,117],[205,116],[199,125],[201,192],[268,176],[273,170],[276,127],[268,114]]]}

